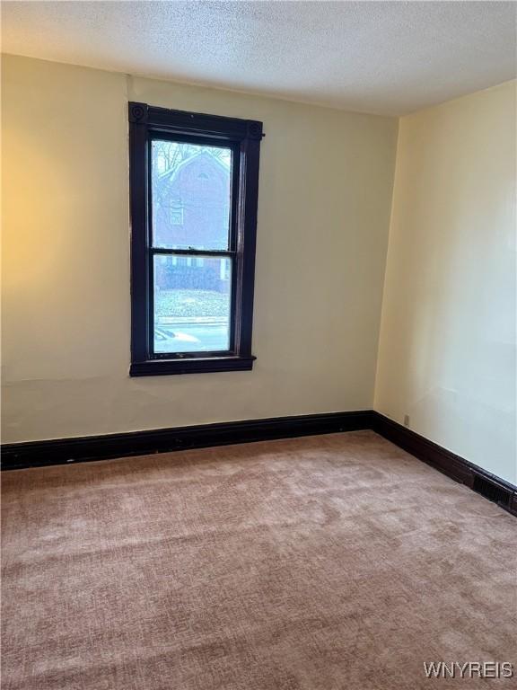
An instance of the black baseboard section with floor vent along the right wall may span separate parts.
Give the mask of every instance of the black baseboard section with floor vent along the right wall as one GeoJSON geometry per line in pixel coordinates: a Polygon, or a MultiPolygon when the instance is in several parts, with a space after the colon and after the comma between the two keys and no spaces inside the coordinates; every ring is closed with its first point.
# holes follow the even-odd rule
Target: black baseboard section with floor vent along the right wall
{"type": "Polygon", "coordinates": [[[472,491],[477,491],[517,516],[517,486],[486,472],[477,464],[451,453],[450,450],[438,446],[379,412],[372,411],[372,429],[391,443],[407,450],[412,456],[447,474],[456,482],[466,484],[472,491]]]}

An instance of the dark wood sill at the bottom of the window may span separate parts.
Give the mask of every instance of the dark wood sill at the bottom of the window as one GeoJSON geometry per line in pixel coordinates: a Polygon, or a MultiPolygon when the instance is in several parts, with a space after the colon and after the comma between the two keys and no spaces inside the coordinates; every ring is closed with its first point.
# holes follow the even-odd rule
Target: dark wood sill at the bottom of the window
{"type": "Polygon", "coordinates": [[[202,374],[217,371],[251,371],[253,355],[242,357],[148,359],[133,362],[129,376],[166,376],[170,374],[202,374]]]}

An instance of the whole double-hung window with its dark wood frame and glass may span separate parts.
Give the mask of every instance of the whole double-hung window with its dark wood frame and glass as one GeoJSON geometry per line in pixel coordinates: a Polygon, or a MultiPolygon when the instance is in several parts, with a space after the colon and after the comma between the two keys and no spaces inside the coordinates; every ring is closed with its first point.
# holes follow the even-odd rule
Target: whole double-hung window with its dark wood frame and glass
{"type": "Polygon", "coordinates": [[[131,376],[252,368],[262,137],[129,103],[131,376]]]}

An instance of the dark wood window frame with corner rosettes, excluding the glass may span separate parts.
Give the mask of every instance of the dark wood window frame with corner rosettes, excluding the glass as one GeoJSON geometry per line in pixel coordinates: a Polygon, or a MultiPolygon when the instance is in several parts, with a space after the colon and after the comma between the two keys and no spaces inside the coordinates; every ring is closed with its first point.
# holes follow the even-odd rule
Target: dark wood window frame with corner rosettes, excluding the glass
{"type": "Polygon", "coordinates": [[[173,111],[129,103],[129,187],[131,207],[131,367],[130,376],[160,376],[253,367],[251,354],[257,202],[262,122],[173,111]],[[151,242],[153,138],[232,148],[232,212],[228,251],[168,250],[151,242]],[[230,257],[232,313],[230,349],[223,352],[153,353],[153,256],[230,257]]]}

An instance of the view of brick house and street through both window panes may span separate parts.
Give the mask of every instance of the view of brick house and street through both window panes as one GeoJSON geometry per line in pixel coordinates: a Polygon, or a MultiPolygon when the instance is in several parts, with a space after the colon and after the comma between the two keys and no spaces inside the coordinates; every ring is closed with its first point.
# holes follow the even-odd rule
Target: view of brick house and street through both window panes
{"type": "Polygon", "coordinates": [[[154,352],[229,350],[232,149],[153,139],[151,165],[154,352]]]}

